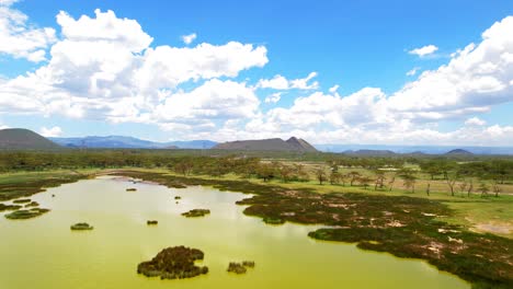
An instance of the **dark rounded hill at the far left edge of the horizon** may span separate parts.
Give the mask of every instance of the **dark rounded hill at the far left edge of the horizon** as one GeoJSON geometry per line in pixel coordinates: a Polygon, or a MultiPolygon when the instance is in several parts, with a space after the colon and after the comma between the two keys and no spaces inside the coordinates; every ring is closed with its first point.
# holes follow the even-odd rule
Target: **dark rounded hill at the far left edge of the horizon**
{"type": "Polygon", "coordinates": [[[57,150],[60,146],[24,128],[0,130],[0,150],[57,150]]]}

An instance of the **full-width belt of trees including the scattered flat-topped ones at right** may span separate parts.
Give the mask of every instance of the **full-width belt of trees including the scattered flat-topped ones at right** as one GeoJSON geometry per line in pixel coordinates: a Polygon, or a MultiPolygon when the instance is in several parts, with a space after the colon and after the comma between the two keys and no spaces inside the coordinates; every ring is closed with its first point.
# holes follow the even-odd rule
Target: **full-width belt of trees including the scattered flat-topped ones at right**
{"type": "MultiPolygon", "coordinates": [[[[183,153],[183,152],[182,152],[183,153]]],[[[331,155],[332,157],[332,155],[331,155]]],[[[283,163],[262,162],[260,158],[247,155],[197,155],[194,153],[176,154],[164,150],[88,150],[60,152],[0,152],[0,172],[41,171],[53,169],[117,169],[117,167],[167,167],[175,173],[190,175],[202,174],[223,176],[235,174],[242,177],[256,177],[269,182],[306,182],[315,177],[322,185],[360,185],[364,188],[391,190],[397,178],[403,187],[415,192],[419,178],[428,181],[426,194],[430,194],[430,180],[444,182],[447,190],[470,194],[480,192],[482,196],[501,193],[501,185],[513,176],[513,161],[501,159],[481,159],[478,161],[457,162],[447,158],[425,158],[407,160],[401,158],[363,158],[338,157],[314,170],[300,162],[283,163]],[[407,162],[417,162],[420,171],[408,169],[407,162]],[[342,173],[343,169],[345,173],[342,173]],[[365,171],[361,170],[365,169],[365,171]],[[390,172],[388,172],[390,171],[390,172]],[[365,172],[365,173],[361,173],[365,172]]]]}

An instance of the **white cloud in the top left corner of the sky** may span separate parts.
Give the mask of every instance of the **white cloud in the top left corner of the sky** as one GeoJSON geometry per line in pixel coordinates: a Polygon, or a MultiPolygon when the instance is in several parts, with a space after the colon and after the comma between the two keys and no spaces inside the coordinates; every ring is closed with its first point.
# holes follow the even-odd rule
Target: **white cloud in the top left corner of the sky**
{"type": "Polygon", "coordinates": [[[30,25],[27,15],[11,8],[14,2],[0,1],[0,55],[25,58],[32,62],[45,60],[45,49],[56,41],[55,30],[30,25]]]}

